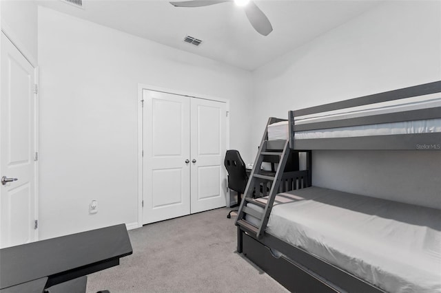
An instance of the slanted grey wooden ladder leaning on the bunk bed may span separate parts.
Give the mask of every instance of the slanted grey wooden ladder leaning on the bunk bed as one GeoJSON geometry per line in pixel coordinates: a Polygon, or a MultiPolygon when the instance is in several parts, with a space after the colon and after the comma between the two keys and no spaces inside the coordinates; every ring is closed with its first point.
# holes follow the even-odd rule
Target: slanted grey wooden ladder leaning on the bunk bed
{"type": "MultiPolygon", "coordinates": [[[[245,231],[254,235],[254,237],[258,239],[262,237],[265,232],[274,199],[276,199],[276,195],[279,193],[279,185],[282,181],[283,172],[290,153],[288,140],[268,140],[268,125],[278,121],[283,120],[277,118],[269,118],[268,120],[262,141],[260,142],[258,154],[256,155],[256,160],[254,161],[252,173],[249,176],[247,188],[245,188],[245,196],[240,203],[236,219],[236,225],[242,227],[245,231]],[[274,163],[274,157],[278,157],[278,166],[275,172],[268,172],[260,169],[263,162],[274,163]],[[273,160],[267,160],[267,158],[272,158],[273,160]],[[266,202],[254,198],[253,195],[260,194],[260,191],[262,191],[263,195],[266,195],[268,186],[271,187],[269,188],[268,199],[266,202]],[[260,206],[260,208],[263,208],[263,212],[248,207],[247,204],[249,203],[260,206]],[[256,221],[254,221],[254,224],[247,221],[245,218],[246,215],[258,219],[260,224],[256,225],[256,221]]],[[[256,198],[257,197],[258,196],[256,196],[256,198]]]]}

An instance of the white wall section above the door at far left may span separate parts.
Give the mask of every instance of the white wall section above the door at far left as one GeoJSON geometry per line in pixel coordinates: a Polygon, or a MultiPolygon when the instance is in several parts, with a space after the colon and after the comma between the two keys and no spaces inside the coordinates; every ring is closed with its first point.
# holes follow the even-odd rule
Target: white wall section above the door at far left
{"type": "Polygon", "coordinates": [[[1,30],[37,66],[38,7],[35,1],[1,0],[1,30]]]}

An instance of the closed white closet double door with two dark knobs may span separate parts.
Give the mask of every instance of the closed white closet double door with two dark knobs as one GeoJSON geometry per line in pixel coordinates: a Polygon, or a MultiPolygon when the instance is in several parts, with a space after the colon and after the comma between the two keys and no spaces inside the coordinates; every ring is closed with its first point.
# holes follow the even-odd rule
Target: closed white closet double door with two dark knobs
{"type": "Polygon", "coordinates": [[[225,102],[150,90],[143,100],[143,224],[225,206],[225,102]]]}

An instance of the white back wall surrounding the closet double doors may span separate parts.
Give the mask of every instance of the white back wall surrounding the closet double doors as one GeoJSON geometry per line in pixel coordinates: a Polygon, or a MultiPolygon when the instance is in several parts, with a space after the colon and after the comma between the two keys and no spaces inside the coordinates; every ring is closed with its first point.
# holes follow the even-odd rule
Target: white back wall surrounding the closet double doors
{"type": "Polygon", "coordinates": [[[249,149],[249,72],[41,7],[38,49],[41,239],[138,221],[138,83],[229,99],[249,149]]]}

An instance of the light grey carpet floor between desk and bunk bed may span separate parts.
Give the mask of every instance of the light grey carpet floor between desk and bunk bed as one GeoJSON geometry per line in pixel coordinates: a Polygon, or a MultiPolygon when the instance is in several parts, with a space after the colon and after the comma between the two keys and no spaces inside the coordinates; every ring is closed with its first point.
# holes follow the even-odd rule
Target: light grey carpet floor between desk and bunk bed
{"type": "Polygon", "coordinates": [[[236,226],[218,208],[129,231],[133,254],[88,276],[87,292],[288,292],[236,252],[236,226]]]}

